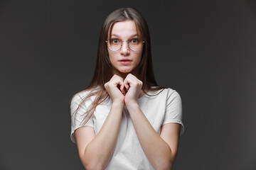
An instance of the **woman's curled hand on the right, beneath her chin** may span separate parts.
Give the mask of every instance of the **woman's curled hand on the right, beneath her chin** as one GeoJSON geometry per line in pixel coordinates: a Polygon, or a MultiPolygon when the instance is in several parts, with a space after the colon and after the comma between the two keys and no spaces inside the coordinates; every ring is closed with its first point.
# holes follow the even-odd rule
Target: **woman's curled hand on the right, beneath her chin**
{"type": "MultiPolygon", "coordinates": [[[[128,90],[124,97],[124,103],[126,106],[138,103],[139,94],[142,91],[142,85],[142,81],[137,79],[137,77],[132,74],[127,75],[124,79],[124,86],[128,90]]],[[[122,88],[124,88],[124,86],[122,86],[122,88]]],[[[124,91],[124,89],[122,89],[122,91],[124,91]]]]}

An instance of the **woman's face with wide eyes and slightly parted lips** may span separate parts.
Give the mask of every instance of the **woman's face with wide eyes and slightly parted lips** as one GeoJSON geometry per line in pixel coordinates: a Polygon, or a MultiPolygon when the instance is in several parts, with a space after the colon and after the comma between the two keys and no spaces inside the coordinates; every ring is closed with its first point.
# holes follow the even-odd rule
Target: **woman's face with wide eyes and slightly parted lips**
{"type": "MultiPolygon", "coordinates": [[[[122,42],[122,47],[120,50],[112,51],[107,48],[110,62],[114,67],[114,74],[127,74],[135,71],[134,69],[138,66],[142,59],[143,42],[140,41],[142,48],[137,51],[129,49],[128,42],[135,44],[139,42],[138,40],[139,33],[137,33],[137,28],[134,21],[120,21],[114,23],[110,42],[117,44],[118,42],[125,41],[122,42]]],[[[132,73],[137,74],[137,72],[132,73]]]]}

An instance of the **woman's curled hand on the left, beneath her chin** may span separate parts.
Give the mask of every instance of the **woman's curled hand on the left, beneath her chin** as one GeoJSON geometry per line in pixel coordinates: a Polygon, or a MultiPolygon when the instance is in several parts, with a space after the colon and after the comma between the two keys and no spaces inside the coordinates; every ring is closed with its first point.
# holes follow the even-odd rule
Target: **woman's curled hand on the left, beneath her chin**
{"type": "Polygon", "coordinates": [[[105,83],[105,89],[112,99],[112,103],[121,102],[124,103],[124,80],[122,77],[114,76],[105,83]],[[120,88],[120,89],[119,89],[120,88]]]}

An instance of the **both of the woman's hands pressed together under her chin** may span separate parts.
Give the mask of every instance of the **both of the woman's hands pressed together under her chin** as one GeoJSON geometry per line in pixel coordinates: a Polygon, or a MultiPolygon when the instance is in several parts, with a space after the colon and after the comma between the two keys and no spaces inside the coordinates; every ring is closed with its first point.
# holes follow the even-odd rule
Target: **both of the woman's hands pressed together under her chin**
{"type": "Polygon", "coordinates": [[[127,104],[137,103],[139,94],[142,91],[142,81],[132,74],[125,79],[117,74],[105,84],[105,89],[112,99],[112,103],[122,102],[127,104]]]}

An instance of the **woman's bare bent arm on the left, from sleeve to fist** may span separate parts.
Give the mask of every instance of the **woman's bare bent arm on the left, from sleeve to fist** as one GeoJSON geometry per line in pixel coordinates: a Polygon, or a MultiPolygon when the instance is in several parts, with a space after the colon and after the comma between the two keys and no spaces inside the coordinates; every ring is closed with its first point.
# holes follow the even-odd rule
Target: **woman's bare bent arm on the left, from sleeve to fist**
{"type": "Polygon", "coordinates": [[[85,169],[105,169],[110,162],[124,107],[124,95],[117,89],[120,84],[122,78],[116,75],[105,84],[105,89],[112,98],[112,106],[100,132],[95,135],[93,128],[86,126],[75,130],[80,160],[85,169]]]}

